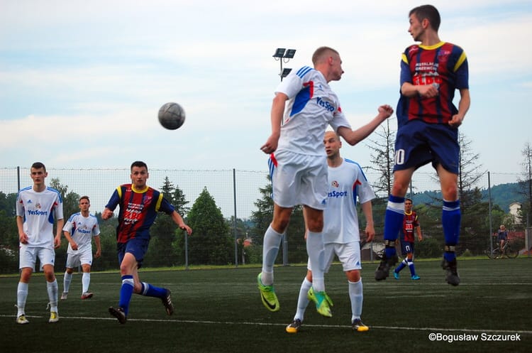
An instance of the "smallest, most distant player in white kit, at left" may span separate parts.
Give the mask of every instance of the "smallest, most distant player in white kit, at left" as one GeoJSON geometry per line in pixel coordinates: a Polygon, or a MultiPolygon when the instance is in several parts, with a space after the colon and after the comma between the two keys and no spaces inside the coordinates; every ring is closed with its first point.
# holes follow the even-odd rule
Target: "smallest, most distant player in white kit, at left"
{"type": "Polygon", "coordinates": [[[68,240],[67,266],[65,277],[63,278],[63,293],[61,299],[67,299],[72,273],[74,267],[82,266],[82,299],[92,298],[89,292],[91,284],[92,266],[92,238],[96,244],[96,254],[98,259],[101,255],[100,226],[94,214],[90,214],[91,202],[88,196],[79,197],[79,212],[70,216],[63,227],[63,234],[68,240]]]}

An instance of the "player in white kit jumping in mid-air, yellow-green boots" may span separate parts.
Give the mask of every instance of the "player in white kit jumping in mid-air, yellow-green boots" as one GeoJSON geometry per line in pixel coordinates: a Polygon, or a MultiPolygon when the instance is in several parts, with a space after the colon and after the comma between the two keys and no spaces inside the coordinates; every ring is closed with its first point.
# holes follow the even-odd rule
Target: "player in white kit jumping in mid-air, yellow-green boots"
{"type": "Polygon", "coordinates": [[[345,141],[355,145],[392,115],[394,109],[382,105],[372,121],[352,130],[336,93],[328,85],[328,82],[340,80],[343,74],[338,51],[318,48],[312,63],[314,68],[304,66],[292,70],[277,87],[271,111],[272,134],[261,147],[264,153],[270,154],[274,210],[272,223],[264,235],[262,272],[257,276],[257,285],[265,307],[272,312],[279,310],[273,286],[273,265],[292,210],[296,205],[303,205],[308,229],[306,251],[314,266],[311,298],[318,313],[331,317],[323,269],[318,266],[323,256],[321,232],[328,193],[323,134],[330,125],[345,141]]]}

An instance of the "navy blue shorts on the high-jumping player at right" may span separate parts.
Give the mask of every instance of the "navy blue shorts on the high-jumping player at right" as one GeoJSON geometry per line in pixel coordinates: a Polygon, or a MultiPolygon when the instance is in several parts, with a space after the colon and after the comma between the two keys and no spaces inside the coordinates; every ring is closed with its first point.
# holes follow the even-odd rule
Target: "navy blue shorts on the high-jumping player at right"
{"type": "Polygon", "coordinates": [[[414,119],[399,126],[395,140],[394,170],[419,168],[432,162],[458,174],[460,144],[458,129],[414,119]]]}

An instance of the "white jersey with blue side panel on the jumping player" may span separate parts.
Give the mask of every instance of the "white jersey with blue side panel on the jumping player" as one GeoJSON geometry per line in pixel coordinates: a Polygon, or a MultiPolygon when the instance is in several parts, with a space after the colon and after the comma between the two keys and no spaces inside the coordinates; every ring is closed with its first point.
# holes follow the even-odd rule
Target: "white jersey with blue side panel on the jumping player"
{"type": "Polygon", "coordinates": [[[292,70],[275,92],[288,97],[277,151],[323,156],[323,135],[327,125],[331,125],[334,131],[340,126],[350,128],[336,93],[323,74],[312,67],[292,70]]]}

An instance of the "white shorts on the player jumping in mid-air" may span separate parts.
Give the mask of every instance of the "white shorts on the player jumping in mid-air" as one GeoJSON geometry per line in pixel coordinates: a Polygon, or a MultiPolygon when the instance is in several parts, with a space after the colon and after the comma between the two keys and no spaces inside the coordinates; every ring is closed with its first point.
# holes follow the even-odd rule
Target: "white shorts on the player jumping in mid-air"
{"type": "Polygon", "coordinates": [[[273,201],[281,207],[306,205],[325,210],[328,195],[326,156],[279,151],[270,157],[273,201]]]}

